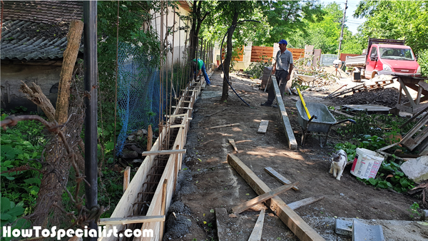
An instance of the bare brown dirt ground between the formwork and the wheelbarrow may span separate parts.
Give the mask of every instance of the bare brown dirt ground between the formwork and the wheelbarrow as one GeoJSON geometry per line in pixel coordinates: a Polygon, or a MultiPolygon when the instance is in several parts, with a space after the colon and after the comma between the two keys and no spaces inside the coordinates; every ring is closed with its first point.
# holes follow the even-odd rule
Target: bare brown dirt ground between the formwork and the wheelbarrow
{"type": "MultiPolygon", "coordinates": [[[[224,207],[231,213],[233,206],[257,196],[226,161],[228,153],[235,153],[228,143],[229,138],[235,140],[237,145],[238,153],[235,155],[271,189],[282,184],[263,170],[266,167],[275,169],[292,182],[299,182],[300,191],[287,190],[279,195],[286,203],[315,195],[325,196],[320,201],[295,210],[325,240],[351,240],[350,237],[335,234],[335,217],[412,220],[408,209],[417,200],[365,185],[350,174],[349,165],[338,181],[329,173],[331,145],[321,148],[317,138],[309,136],[305,146],[300,146],[301,128],[297,123],[298,114],[293,100],[298,97],[285,96],[284,99],[299,144],[298,150],[290,150],[278,109],[260,106],[267,100],[267,93],[258,90],[257,84],[260,82],[231,76],[232,85],[251,107],[240,101],[231,90],[228,101],[220,102],[223,78],[220,71],[213,73],[210,78],[213,85],[205,88],[194,106],[185,146],[187,154],[179,173],[173,205],[169,209],[164,240],[218,240],[215,207],[224,207]],[[210,114],[213,115],[208,116],[210,114]],[[269,120],[265,134],[257,132],[260,120],[269,120]],[[208,129],[231,123],[240,125],[208,129]],[[172,212],[175,215],[171,215],[172,212]]],[[[338,86],[340,84],[329,88],[334,91],[338,86]]],[[[337,103],[320,98],[326,94],[303,91],[305,101],[337,106],[337,103]]],[[[332,131],[329,143],[338,141],[343,140],[332,131]]],[[[224,234],[227,240],[248,240],[263,206],[257,205],[238,217],[225,220],[229,224],[224,234]]],[[[262,240],[298,240],[270,209],[266,210],[262,237],[262,240]]]]}

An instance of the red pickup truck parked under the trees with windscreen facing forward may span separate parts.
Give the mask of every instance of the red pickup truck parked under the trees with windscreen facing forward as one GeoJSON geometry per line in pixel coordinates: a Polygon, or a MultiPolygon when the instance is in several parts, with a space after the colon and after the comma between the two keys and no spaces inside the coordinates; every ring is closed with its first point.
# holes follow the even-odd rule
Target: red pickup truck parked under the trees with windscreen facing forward
{"type": "Polygon", "coordinates": [[[362,56],[347,56],[345,66],[352,76],[373,78],[380,74],[401,76],[421,75],[421,67],[416,61],[412,48],[404,45],[404,40],[369,39],[367,51],[362,56]]]}

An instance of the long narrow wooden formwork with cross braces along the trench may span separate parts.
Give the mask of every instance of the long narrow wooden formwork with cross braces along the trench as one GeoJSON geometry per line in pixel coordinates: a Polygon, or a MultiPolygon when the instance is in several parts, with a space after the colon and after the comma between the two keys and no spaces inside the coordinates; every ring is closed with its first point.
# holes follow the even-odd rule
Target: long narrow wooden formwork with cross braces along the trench
{"type": "MultiPolygon", "coordinates": [[[[168,128],[179,128],[178,134],[173,143],[172,150],[182,150],[185,146],[187,139],[187,132],[193,112],[193,104],[198,98],[201,91],[202,84],[200,82],[191,81],[188,83],[188,86],[183,90],[183,96],[178,101],[175,111],[172,115],[168,116],[168,123],[174,123],[175,120],[181,120],[178,125],[170,125],[168,128]],[[190,101],[186,101],[185,98],[190,98],[190,101]],[[188,107],[184,107],[184,103],[188,103],[188,107]]],[[[153,144],[151,152],[159,150],[159,145],[163,143],[165,139],[168,128],[163,128],[159,138],[153,144]]],[[[171,153],[169,151],[169,153],[171,153]]],[[[134,237],[133,240],[162,240],[165,221],[159,221],[160,216],[164,216],[168,211],[170,201],[173,198],[178,171],[181,169],[181,164],[183,160],[183,153],[170,154],[168,161],[165,165],[165,170],[161,175],[161,180],[159,180],[156,191],[151,200],[150,207],[148,207],[148,212],[146,217],[157,217],[153,218],[151,222],[143,222],[141,231],[143,230],[153,230],[153,237],[134,237]]],[[[151,167],[154,164],[156,155],[146,155],[143,163],[138,169],[136,175],[134,176],[131,183],[128,185],[125,193],[121,200],[119,200],[116,209],[111,215],[111,219],[123,218],[133,215],[133,204],[138,202],[138,193],[143,192],[143,183],[147,180],[147,175],[151,170],[151,167]]],[[[165,220],[165,219],[163,219],[165,220]]],[[[124,230],[126,226],[123,224],[115,225],[116,230],[124,230]]],[[[107,225],[107,230],[113,229],[113,225],[107,225]]],[[[110,241],[118,240],[117,237],[101,237],[98,240],[110,241]]],[[[119,239],[121,240],[121,239],[119,239]]]]}

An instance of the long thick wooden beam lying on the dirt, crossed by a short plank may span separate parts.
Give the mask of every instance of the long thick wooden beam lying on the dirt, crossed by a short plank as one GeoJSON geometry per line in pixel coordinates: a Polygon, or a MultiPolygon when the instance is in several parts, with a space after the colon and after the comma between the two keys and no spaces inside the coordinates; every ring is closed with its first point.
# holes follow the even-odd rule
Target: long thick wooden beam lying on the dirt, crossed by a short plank
{"type": "MultiPolygon", "coordinates": [[[[276,82],[276,81],[275,81],[276,82]]],[[[247,165],[239,160],[235,155],[228,154],[228,163],[235,168],[239,175],[250,185],[255,193],[262,195],[270,191],[270,188],[253,173],[247,165]]],[[[307,223],[302,220],[302,217],[297,215],[290,207],[278,197],[273,197],[266,201],[270,209],[280,217],[280,220],[290,228],[290,230],[302,241],[310,240],[325,240],[307,223]]]]}

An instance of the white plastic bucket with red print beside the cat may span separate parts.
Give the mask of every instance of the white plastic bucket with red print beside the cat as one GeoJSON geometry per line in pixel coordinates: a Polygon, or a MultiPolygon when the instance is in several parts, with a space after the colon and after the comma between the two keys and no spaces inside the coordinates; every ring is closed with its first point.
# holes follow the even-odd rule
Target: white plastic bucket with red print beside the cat
{"type": "Polygon", "coordinates": [[[379,153],[365,148],[357,148],[351,173],[357,178],[376,178],[377,171],[383,160],[384,157],[379,153]]]}

